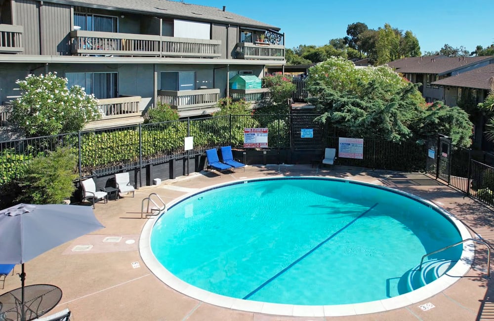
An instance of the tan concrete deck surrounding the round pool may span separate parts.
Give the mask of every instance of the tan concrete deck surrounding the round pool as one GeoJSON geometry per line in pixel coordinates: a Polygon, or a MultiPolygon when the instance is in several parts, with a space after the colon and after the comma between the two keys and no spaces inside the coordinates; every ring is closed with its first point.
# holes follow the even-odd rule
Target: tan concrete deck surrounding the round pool
{"type": "MultiPolygon", "coordinates": [[[[138,250],[141,202],[157,193],[166,203],[207,186],[257,177],[320,176],[350,178],[409,192],[450,211],[475,233],[494,244],[494,211],[422,173],[402,173],[333,166],[247,166],[245,172],[194,173],[168,180],[159,186],[139,188],[135,198],[96,203],[95,214],[106,228],[60,245],[25,264],[26,285],[49,283],[63,290],[59,305],[49,314],[68,308],[74,321],[324,321],[324,320],[491,320],[494,319],[494,284],[486,276],[486,252],[476,246],[472,269],[446,290],[421,302],[386,312],[345,317],[287,317],[244,312],[204,303],[177,292],[144,265],[138,250]],[[117,237],[117,240],[106,239],[117,237]],[[132,242],[134,241],[134,242],[132,242]],[[81,250],[75,248],[80,246],[81,250]],[[84,250],[90,247],[88,250],[84,250]],[[431,303],[423,311],[419,306],[431,303]]],[[[418,263],[418,262],[417,262],[418,263]]],[[[492,270],[492,269],[491,269],[492,270]]],[[[14,269],[20,273],[20,265],[14,269]]],[[[1,283],[0,283],[1,285],[1,283]]],[[[0,294],[20,286],[19,278],[7,276],[0,294]]]]}

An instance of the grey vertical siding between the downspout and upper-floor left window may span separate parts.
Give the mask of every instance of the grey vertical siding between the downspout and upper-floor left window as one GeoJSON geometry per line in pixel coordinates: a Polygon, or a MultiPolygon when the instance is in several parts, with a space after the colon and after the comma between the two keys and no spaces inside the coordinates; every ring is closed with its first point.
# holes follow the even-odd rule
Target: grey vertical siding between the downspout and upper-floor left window
{"type": "Polygon", "coordinates": [[[70,6],[44,2],[41,15],[42,54],[70,55],[70,6]]]}

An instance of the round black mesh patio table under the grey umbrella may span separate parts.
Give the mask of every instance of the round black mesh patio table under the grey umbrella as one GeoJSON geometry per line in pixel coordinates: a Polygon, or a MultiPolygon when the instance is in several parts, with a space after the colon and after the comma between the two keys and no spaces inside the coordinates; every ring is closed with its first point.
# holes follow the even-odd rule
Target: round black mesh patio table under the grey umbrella
{"type": "Polygon", "coordinates": [[[51,284],[32,284],[24,287],[24,309],[21,304],[21,288],[0,295],[0,321],[30,321],[41,317],[56,307],[62,298],[62,290],[51,284]],[[22,313],[24,310],[24,313],[22,313]],[[24,314],[24,318],[22,315],[24,314]]]}

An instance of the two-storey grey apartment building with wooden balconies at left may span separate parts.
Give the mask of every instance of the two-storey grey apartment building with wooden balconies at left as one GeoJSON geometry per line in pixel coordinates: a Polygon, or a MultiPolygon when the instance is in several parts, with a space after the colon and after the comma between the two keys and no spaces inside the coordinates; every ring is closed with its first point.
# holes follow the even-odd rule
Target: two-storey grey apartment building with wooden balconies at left
{"type": "Polygon", "coordinates": [[[285,64],[279,31],[178,1],[0,0],[0,106],[19,95],[15,80],[57,72],[99,99],[103,120],[89,127],[140,122],[160,101],[210,114],[229,78],[285,64]]]}

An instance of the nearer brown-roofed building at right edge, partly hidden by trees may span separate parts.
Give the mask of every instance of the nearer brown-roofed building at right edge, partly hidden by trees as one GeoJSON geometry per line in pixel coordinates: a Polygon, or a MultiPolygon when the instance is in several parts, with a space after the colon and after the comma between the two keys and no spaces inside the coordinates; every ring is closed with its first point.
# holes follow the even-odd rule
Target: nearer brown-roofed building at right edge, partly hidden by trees
{"type": "Polygon", "coordinates": [[[485,139],[483,132],[488,119],[485,113],[476,111],[478,103],[483,102],[494,81],[494,64],[476,68],[464,73],[452,73],[447,77],[431,84],[444,89],[444,102],[448,106],[460,106],[467,109],[474,121],[474,147],[482,150],[493,150],[493,143],[485,139]]]}

